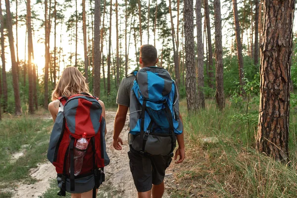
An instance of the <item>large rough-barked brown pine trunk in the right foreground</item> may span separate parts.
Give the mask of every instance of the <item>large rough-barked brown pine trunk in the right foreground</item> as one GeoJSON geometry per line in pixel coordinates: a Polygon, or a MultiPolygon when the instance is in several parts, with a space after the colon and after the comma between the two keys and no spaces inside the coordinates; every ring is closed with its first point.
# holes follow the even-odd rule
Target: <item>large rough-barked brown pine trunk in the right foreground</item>
{"type": "Polygon", "coordinates": [[[264,0],[256,149],[288,161],[295,0],[264,0]]]}

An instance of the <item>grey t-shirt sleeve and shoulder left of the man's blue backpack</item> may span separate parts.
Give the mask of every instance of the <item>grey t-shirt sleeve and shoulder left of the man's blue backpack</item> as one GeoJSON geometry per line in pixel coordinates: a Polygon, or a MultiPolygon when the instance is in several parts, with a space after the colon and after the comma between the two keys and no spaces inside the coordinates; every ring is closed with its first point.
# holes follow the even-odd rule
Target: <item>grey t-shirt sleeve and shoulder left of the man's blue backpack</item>
{"type": "Polygon", "coordinates": [[[133,74],[124,77],[119,85],[116,103],[123,106],[130,106],[130,93],[133,87],[135,76],[133,74]]]}

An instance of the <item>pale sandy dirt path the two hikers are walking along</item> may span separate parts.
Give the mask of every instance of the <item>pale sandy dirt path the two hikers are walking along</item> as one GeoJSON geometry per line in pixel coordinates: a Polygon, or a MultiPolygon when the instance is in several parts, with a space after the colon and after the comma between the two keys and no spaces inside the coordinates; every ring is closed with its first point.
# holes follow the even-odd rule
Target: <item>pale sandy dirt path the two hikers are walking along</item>
{"type": "MultiPolygon", "coordinates": [[[[125,128],[121,134],[123,140],[123,149],[118,151],[112,148],[112,135],[113,135],[113,122],[115,112],[106,112],[106,146],[107,154],[110,158],[110,164],[104,169],[105,182],[100,186],[98,196],[99,198],[136,198],[137,191],[133,183],[132,174],[129,167],[129,158],[127,152],[129,146],[127,144],[128,138],[128,122],[127,116],[125,128]]],[[[50,120],[48,114],[39,116],[45,121],[50,120]]],[[[50,130],[52,124],[48,123],[47,130],[50,130]]],[[[49,141],[49,131],[46,135],[46,140],[49,141]]],[[[28,147],[25,145],[25,147],[28,147]]],[[[27,149],[20,147],[17,152],[14,152],[10,159],[12,164],[19,162],[22,158],[27,158],[27,149]]],[[[42,154],[43,157],[36,164],[37,167],[30,168],[27,172],[25,180],[11,181],[9,185],[2,185],[0,190],[0,198],[56,198],[58,188],[56,185],[56,173],[53,165],[45,158],[46,153],[42,154]]],[[[173,163],[172,163],[173,164],[173,163]]],[[[36,166],[35,165],[35,166],[36,166]]],[[[171,165],[173,167],[174,165],[171,165]]],[[[166,171],[165,182],[168,189],[174,186],[173,171],[169,168],[166,171]]],[[[67,194],[67,197],[70,197],[67,194]]],[[[169,195],[164,193],[163,198],[169,198],[169,195]]]]}

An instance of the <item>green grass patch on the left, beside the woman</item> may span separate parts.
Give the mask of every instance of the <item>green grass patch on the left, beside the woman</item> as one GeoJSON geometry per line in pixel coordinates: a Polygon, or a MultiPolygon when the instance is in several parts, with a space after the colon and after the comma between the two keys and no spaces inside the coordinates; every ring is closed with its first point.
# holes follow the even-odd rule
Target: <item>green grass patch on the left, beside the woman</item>
{"type": "Polygon", "coordinates": [[[0,188],[19,181],[35,182],[29,177],[29,170],[46,159],[51,125],[51,120],[33,116],[4,117],[0,122],[0,188]],[[24,154],[12,161],[16,152],[24,154]]]}

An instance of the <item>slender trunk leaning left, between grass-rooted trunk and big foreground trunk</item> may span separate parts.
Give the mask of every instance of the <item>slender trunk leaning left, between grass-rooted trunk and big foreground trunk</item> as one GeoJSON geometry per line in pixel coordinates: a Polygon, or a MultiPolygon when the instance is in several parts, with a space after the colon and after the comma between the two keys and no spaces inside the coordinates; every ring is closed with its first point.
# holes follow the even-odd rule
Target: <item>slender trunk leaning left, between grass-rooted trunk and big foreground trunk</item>
{"type": "Polygon", "coordinates": [[[237,58],[238,58],[238,68],[239,68],[239,84],[243,91],[243,78],[244,78],[244,58],[243,58],[243,47],[240,39],[240,26],[238,19],[238,9],[237,9],[237,0],[233,1],[233,13],[234,13],[234,23],[235,23],[235,35],[236,35],[236,43],[237,43],[237,58]]]}

